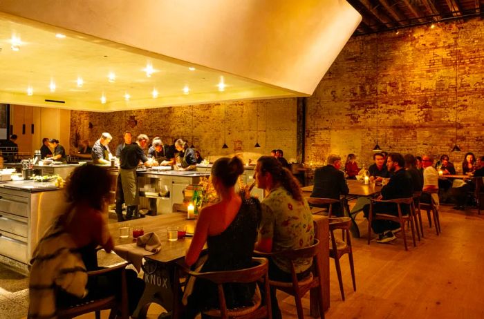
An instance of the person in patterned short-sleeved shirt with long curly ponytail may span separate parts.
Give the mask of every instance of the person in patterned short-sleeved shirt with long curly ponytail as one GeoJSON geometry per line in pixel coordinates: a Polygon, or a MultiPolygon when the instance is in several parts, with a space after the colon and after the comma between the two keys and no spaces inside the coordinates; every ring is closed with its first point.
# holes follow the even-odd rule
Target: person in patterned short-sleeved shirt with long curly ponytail
{"type": "MultiPolygon", "coordinates": [[[[268,195],[261,202],[262,218],[259,227],[257,250],[270,253],[287,249],[308,247],[314,241],[313,215],[303,197],[296,178],[270,156],[257,160],[255,180],[259,189],[268,195]]],[[[312,258],[297,260],[296,272],[299,279],[308,276],[312,258]]],[[[270,258],[269,278],[291,282],[289,260],[270,258]]],[[[281,318],[275,290],[271,288],[272,318],[281,318]]]]}

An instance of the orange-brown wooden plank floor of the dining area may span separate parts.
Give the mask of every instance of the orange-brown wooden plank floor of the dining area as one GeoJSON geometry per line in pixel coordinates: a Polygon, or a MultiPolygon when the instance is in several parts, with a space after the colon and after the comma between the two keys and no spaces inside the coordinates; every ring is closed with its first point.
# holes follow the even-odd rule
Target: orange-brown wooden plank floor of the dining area
{"type": "MultiPolygon", "coordinates": [[[[409,251],[404,251],[400,233],[391,244],[353,239],[357,291],[344,256],[346,301],[341,300],[331,260],[326,318],[484,318],[484,216],[451,206],[441,206],[440,215],[442,233],[429,229],[425,217],[425,238],[409,251]]],[[[366,221],[359,222],[366,229],[366,221]]],[[[281,293],[278,298],[283,318],[297,318],[292,297],[281,293]]],[[[308,296],[303,303],[309,317],[308,296]]],[[[149,318],[157,318],[160,310],[151,306],[149,318]]]]}

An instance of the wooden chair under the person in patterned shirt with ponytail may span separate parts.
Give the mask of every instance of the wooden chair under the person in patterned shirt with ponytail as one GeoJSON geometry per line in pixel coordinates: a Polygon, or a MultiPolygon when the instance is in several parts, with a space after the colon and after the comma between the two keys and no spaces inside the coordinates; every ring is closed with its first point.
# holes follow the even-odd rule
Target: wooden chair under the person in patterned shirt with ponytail
{"type": "Polygon", "coordinates": [[[304,313],[302,308],[301,299],[310,289],[318,287],[318,306],[319,306],[319,316],[324,319],[324,307],[323,307],[323,285],[321,274],[319,273],[319,264],[317,262],[317,254],[319,253],[319,240],[315,239],[314,244],[308,247],[292,249],[286,251],[277,251],[274,253],[262,253],[259,251],[254,251],[257,255],[262,255],[263,257],[271,258],[275,255],[279,258],[284,258],[290,260],[291,263],[291,278],[292,282],[281,282],[276,280],[269,280],[270,286],[275,289],[284,291],[285,293],[294,296],[296,301],[297,318],[303,319],[304,313]],[[313,270],[306,278],[301,280],[297,279],[297,273],[295,269],[295,260],[299,258],[313,258],[313,270]]]}

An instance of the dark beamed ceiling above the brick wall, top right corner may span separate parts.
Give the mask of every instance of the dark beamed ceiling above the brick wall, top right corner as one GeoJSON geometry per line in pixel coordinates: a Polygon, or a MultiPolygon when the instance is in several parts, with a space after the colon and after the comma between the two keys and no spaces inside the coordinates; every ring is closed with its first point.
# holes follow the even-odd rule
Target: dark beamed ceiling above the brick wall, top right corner
{"type": "Polygon", "coordinates": [[[348,0],[362,22],[354,35],[452,19],[483,17],[484,0],[348,0]]]}

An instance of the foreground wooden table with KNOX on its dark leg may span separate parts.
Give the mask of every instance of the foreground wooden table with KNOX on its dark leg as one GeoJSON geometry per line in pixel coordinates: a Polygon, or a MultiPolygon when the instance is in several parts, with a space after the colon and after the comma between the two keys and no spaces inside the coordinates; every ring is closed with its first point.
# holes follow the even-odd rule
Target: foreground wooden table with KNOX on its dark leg
{"type": "MultiPolygon", "coordinates": [[[[143,280],[145,280],[146,287],[138,307],[133,313],[133,318],[146,318],[151,302],[158,303],[167,311],[173,311],[175,301],[173,280],[175,278],[176,262],[185,258],[185,253],[192,242],[192,238],[186,237],[176,242],[169,242],[167,239],[167,228],[170,226],[187,226],[187,233],[193,233],[196,220],[187,220],[186,216],[186,213],[169,213],[109,224],[109,231],[113,236],[115,245],[133,242],[131,234],[129,238],[119,238],[119,228],[127,225],[131,227],[142,226],[145,233],[156,233],[161,240],[160,252],[145,256],[143,280]]],[[[329,225],[328,219],[324,216],[313,215],[313,219],[317,224],[316,238],[321,242],[322,247],[322,251],[319,254],[319,264],[324,283],[324,310],[327,310],[329,308],[329,225]]],[[[314,316],[319,316],[316,296],[317,289],[313,289],[310,292],[310,311],[314,316]]]]}

